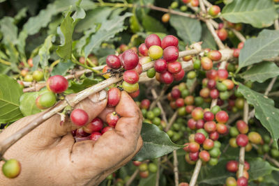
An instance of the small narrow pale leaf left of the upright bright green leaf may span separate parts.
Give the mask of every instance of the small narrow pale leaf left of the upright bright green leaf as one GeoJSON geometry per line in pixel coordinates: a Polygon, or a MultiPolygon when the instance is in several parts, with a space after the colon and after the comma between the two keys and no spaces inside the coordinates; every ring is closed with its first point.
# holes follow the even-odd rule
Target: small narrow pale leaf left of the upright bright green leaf
{"type": "Polygon", "coordinates": [[[52,47],[52,42],[54,42],[55,36],[47,36],[42,47],[40,47],[38,55],[40,56],[40,65],[45,68],[48,65],[48,60],[50,59],[50,48],[52,47]]]}

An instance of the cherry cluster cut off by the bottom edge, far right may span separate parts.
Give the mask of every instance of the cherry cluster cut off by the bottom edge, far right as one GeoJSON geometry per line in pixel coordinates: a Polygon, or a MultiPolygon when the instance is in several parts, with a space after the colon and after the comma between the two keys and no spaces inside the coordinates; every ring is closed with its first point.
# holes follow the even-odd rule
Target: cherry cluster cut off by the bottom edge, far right
{"type": "Polygon", "coordinates": [[[239,162],[236,160],[230,160],[226,164],[227,171],[231,173],[236,173],[237,180],[230,176],[226,179],[226,186],[232,186],[232,185],[239,185],[239,186],[247,186],[248,185],[248,179],[249,179],[249,173],[248,170],[250,169],[250,164],[248,162],[244,162],[244,169],[243,169],[243,176],[239,177],[239,162]]]}

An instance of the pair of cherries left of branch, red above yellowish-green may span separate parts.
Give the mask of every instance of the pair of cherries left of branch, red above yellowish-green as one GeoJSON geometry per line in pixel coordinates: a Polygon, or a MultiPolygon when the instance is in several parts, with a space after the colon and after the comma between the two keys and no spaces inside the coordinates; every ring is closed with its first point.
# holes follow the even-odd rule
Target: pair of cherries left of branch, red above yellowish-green
{"type": "Polygon", "coordinates": [[[47,109],[56,103],[56,93],[63,93],[68,88],[68,81],[61,75],[54,75],[47,79],[47,90],[36,98],[38,109],[47,109]]]}

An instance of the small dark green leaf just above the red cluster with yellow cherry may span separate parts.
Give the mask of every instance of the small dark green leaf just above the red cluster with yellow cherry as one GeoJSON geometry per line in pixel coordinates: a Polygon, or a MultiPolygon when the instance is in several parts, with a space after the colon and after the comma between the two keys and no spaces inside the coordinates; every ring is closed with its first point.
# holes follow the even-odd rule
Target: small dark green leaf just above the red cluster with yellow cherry
{"type": "Polygon", "coordinates": [[[163,24],[149,15],[142,17],[142,26],[144,26],[146,31],[167,33],[167,29],[165,29],[163,24]]]}

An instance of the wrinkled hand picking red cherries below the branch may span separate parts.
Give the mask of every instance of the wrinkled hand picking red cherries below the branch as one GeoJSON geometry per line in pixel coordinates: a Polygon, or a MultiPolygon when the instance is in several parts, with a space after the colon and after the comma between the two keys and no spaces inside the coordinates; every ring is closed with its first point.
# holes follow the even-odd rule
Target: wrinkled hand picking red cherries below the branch
{"type": "MultiPolygon", "coordinates": [[[[76,105],[105,121],[112,108],[106,108],[107,93],[101,91],[76,105]]],[[[77,127],[56,114],[29,132],[7,150],[6,159],[22,164],[20,176],[8,179],[0,174],[0,185],[98,185],[110,173],[130,161],[142,147],[142,114],[126,92],[115,107],[121,116],[115,130],[105,132],[98,141],[75,143],[71,131],[77,127]]],[[[0,141],[30,123],[36,115],[22,118],[0,134],[0,141]]],[[[1,162],[0,166],[2,166],[1,162]]]]}

